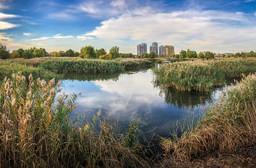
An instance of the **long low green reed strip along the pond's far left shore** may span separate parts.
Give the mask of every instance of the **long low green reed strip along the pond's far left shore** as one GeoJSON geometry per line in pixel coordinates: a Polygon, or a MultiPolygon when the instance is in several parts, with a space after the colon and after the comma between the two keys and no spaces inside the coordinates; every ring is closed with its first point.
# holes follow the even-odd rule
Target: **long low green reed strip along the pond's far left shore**
{"type": "Polygon", "coordinates": [[[55,59],[40,63],[39,67],[56,72],[114,72],[123,66],[114,60],[55,59]]]}

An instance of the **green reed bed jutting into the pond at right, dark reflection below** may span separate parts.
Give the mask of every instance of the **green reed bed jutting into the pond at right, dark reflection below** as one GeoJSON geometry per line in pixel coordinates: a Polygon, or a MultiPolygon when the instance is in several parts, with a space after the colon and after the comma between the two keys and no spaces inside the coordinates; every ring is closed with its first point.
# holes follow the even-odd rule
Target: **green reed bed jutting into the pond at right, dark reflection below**
{"type": "Polygon", "coordinates": [[[212,87],[224,85],[226,77],[256,72],[256,60],[176,62],[154,69],[153,72],[159,85],[179,91],[208,91],[212,87]]]}

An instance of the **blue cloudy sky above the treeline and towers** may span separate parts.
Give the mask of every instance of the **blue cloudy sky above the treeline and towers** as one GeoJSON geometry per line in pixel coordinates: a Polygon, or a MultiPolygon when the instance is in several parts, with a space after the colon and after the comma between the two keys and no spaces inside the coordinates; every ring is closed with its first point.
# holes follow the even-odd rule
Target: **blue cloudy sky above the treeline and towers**
{"type": "Polygon", "coordinates": [[[256,51],[256,0],[0,0],[0,43],[11,51],[91,45],[136,54],[152,42],[176,53],[256,51]]]}

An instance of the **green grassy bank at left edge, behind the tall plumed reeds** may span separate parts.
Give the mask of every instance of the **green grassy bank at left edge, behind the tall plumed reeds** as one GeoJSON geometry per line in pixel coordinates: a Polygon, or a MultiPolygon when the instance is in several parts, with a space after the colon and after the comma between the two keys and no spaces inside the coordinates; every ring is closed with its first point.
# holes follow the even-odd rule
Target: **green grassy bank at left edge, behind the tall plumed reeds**
{"type": "Polygon", "coordinates": [[[11,61],[2,61],[0,60],[0,80],[3,80],[5,77],[11,78],[13,73],[20,72],[24,76],[29,76],[32,74],[34,77],[44,78],[50,80],[52,78],[60,78],[62,75],[49,72],[42,68],[35,68],[29,65],[18,64],[11,61]]]}

